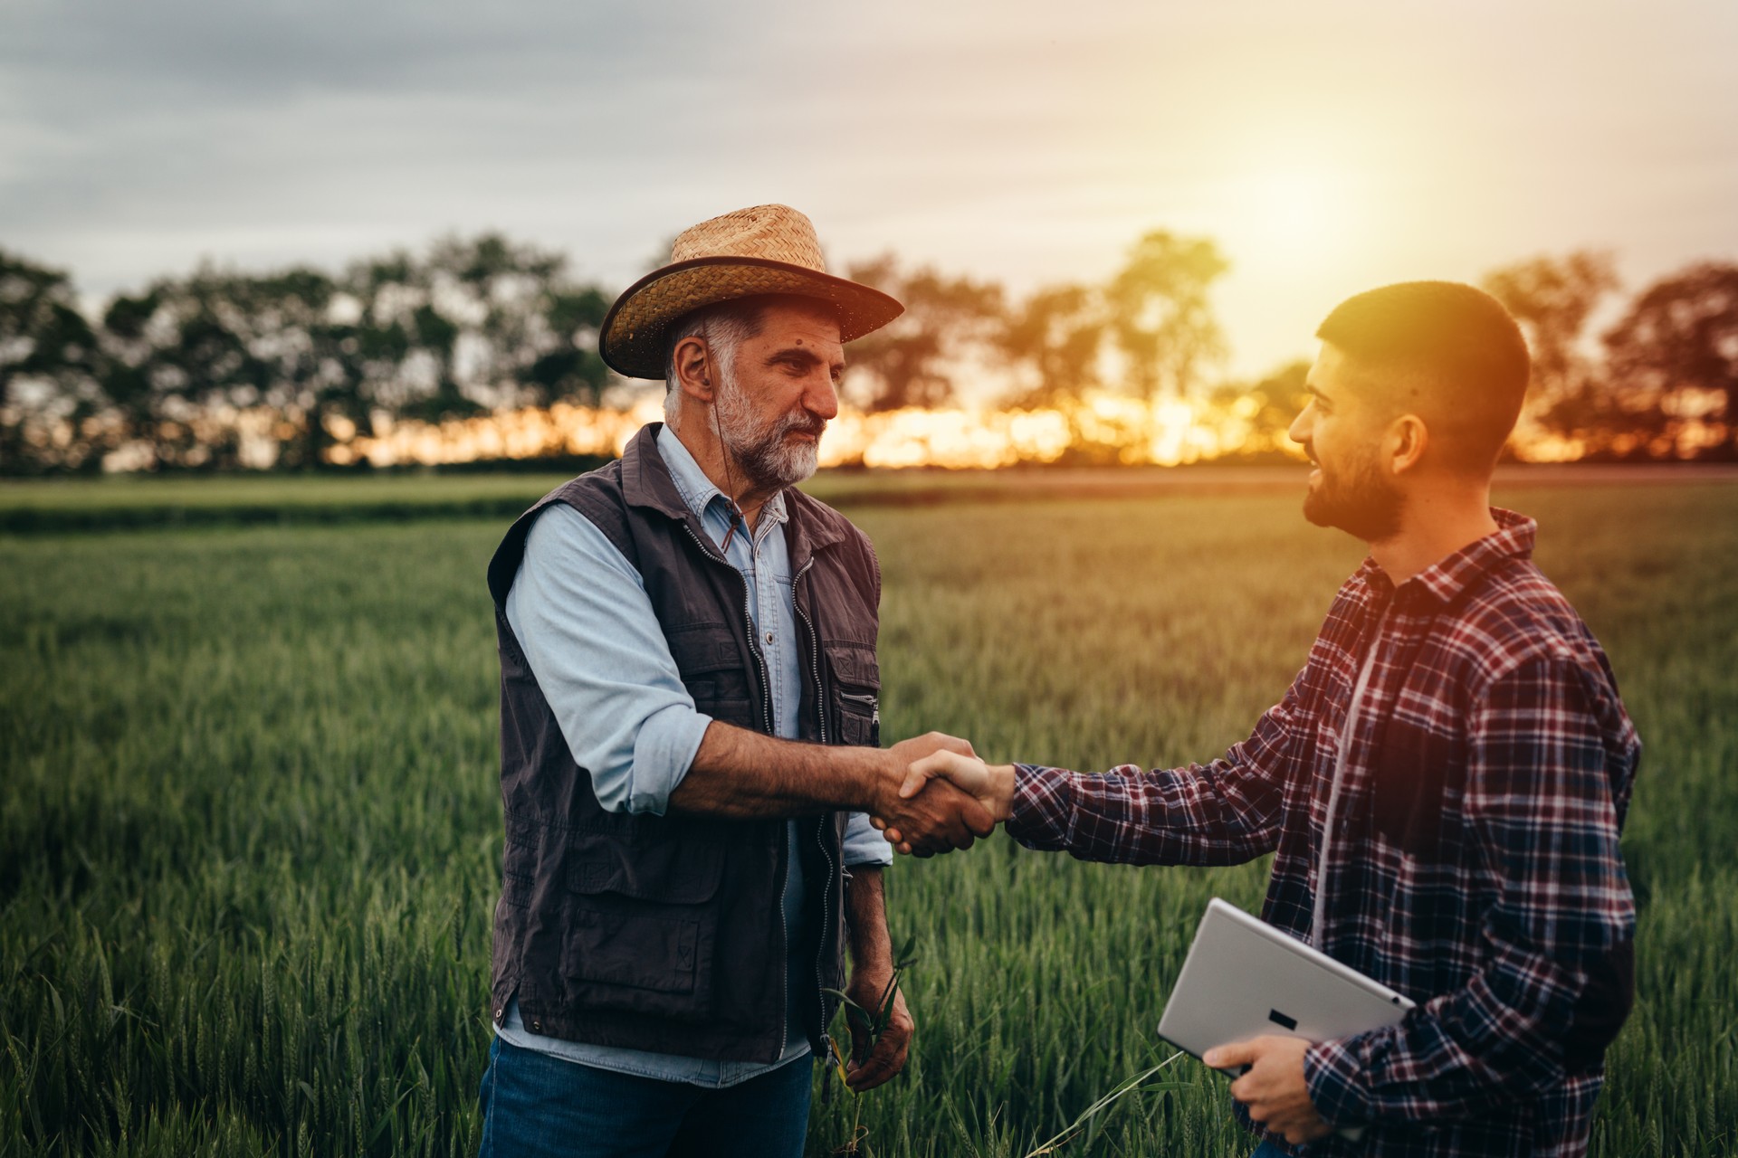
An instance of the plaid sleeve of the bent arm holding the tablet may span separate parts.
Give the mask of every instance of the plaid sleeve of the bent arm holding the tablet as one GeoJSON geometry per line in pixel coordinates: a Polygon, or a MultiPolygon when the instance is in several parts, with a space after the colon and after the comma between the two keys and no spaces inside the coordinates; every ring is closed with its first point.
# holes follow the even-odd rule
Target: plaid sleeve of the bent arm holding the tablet
{"type": "Polygon", "coordinates": [[[1463,1118],[1535,1097],[1616,1033],[1632,993],[1635,908],[1602,694],[1580,667],[1538,660],[1483,698],[1465,793],[1483,877],[1495,882],[1483,967],[1397,1026],[1314,1045],[1304,1073],[1328,1122],[1463,1118]]]}

